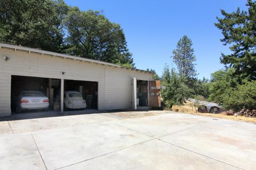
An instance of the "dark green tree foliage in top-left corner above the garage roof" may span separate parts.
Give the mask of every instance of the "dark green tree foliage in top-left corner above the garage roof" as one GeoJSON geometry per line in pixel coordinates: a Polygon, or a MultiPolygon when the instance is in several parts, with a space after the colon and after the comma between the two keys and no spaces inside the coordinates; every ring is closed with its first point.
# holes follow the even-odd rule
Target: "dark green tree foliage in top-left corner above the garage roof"
{"type": "Polygon", "coordinates": [[[63,18],[68,6],[63,1],[2,0],[0,23],[3,43],[62,52],[63,18]]]}

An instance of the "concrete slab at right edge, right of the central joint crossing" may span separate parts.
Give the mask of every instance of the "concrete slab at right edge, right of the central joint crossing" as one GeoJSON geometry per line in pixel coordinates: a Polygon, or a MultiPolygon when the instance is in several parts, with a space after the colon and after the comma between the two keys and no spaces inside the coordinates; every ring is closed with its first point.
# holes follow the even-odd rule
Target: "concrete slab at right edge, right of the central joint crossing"
{"type": "Polygon", "coordinates": [[[243,169],[254,169],[255,128],[251,123],[220,119],[159,139],[243,169]]]}

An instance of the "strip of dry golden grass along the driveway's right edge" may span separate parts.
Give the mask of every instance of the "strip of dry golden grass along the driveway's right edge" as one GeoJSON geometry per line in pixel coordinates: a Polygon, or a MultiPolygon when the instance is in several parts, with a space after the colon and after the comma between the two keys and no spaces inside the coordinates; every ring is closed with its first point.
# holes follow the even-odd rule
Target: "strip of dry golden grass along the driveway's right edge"
{"type": "Polygon", "coordinates": [[[192,108],[191,106],[189,106],[189,104],[190,104],[190,101],[187,101],[187,104],[185,104],[184,106],[173,106],[172,109],[173,111],[174,109],[179,109],[180,113],[189,113],[189,114],[195,114],[195,115],[201,115],[201,116],[226,118],[229,120],[256,123],[256,118],[253,118],[253,117],[227,116],[225,114],[211,114],[211,113],[196,113],[195,108],[192,108]]]}

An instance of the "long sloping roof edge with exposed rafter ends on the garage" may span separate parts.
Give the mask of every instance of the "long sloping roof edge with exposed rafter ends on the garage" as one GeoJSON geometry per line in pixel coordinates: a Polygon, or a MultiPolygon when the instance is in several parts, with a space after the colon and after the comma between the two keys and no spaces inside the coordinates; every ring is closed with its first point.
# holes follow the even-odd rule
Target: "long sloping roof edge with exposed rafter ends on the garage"
{"type": "Polygon", "coordinates": [[[135,70],[135,71],[140,71],[140,72],[153,73],[153,72],[150,72],[150,71],[139,70],[139,69],[136,69],[136,68],[123,67],[123,66],[118,65],[118,64],[102,62],[102,61],[99,61],[99,60],[92,60],[92,59],[89,59],[89,58],[71,56],[71,55],[67,55],[67,54],[54,53],[54,52],[49,52],[49,51],[45,51],[45,50],[42,50],[42,49],[36,49],[36,48],[30,48],[30,47],[23,47],[23,46],[0,43],[0,49],[1,48],[12,49],[12,50],[14,50],[14,52],[23,51],[23,52],[28,52],[28,54],[36,53],[36,54],[41,54],[41,55],[50,55],[53,58],[54,57],[60,57],[60,58],[63,58],[63,59],[70,59],[70,60],[73,60],[73,61],[78,60],[78,61],[81,61],[81,62],[108,65],[108,66],[119,67],[119,68],[127,69],[127,70],[135,70]]]}

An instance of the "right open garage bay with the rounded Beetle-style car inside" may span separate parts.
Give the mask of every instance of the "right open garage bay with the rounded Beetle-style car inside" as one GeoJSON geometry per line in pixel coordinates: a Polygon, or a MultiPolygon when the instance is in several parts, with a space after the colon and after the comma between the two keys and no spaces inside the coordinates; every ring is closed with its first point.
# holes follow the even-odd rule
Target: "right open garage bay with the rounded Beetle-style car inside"
{"type": "Polygon", "coordinates": [[[64,80],[64,109],[98,109],[98,82],[64,80]]]}

